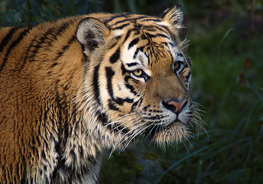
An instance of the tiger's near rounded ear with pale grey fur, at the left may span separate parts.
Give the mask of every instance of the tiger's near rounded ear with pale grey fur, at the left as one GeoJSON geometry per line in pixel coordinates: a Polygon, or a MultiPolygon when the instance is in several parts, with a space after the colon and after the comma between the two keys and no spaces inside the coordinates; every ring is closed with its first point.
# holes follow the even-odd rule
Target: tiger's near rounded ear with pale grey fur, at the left
{"type": "Polygon", "coordinates": [[[79,22],[77,28],[77,40],[82,45],[83,53],[88,55],[99,45],[105,43],[105,37],[110,30],[106,25],[95,18],[85,18],[79,22]]]}

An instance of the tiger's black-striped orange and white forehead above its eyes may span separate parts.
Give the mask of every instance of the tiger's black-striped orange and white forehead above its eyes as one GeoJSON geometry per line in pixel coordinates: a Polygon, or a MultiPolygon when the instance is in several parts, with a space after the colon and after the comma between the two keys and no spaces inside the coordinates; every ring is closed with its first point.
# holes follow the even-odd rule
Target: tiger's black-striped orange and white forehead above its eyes
{"type": "Polygon", "coordinates": [[[113,29],[112,33],[114,37],[125,37],[121,60],[130,71],[140,68],[150,76],[154,68],[163,66],[165,62],[170,68],[180,55],[168,30],[168,23],[164,21],[126,22],[125,26],[113,29]]]}

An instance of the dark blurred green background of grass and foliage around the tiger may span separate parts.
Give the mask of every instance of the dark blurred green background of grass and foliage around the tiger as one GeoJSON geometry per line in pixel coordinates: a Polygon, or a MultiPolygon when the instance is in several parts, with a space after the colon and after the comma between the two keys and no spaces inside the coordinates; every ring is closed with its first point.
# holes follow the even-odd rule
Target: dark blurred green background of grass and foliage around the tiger
{"type": "Polygon", "coordinates": [[[193,61],[191,95],[205,130],[160,148],[139,137],[106,152],[100,183],[263,183],[263,1],[6,0],[1,26],[91,12],[158,15],[181,4],[193,61]]]}

